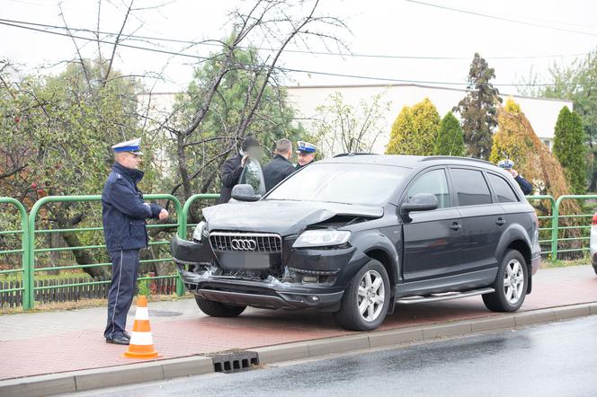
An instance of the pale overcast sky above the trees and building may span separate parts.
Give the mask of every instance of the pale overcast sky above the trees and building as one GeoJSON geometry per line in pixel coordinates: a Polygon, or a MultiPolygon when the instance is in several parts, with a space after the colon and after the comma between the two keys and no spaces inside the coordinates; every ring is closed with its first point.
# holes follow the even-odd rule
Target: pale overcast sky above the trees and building
{"type": "MultiPolygon", "coordinates": [[[[102,31],[120,29],[124,1],[128,3],[128,0],[102,0],[102,31]]],[[[554,62],[569,64],[575,56],[597,47],[595,1],[422,1],[460,11],[405,0],[323,0],[321,10],[343,19],[350,27],[352,33],[338,31],[338,34],[347,42],[353,54],[459,59],[287,54],[282,58],[281,65],[343,75],[460,84],[466,82],[470,60],[477,51],[486,57],[490,66],[495,67],[495,84],[518,84],[521,78],[529,75],[531,67],[539,73],[541,82],[548,82],[549,65],[554,62]]],[[[136,0],[135,6],[151,7],[165,2],[167,0],[136,0]]],[[[58,15],[58,4],[54,0],[0,0],[0,4],[1,19],[63,25],[58,15]]],[[[222,39],[231,30],[227,13],[236,6],[246,7],[249,4],[251,2],[237,0],[177,0],[158,9],[135,12],[125,27],[125,33],[179,40],[222,39]]],[[[62,6],[69,26],[95,30],[96,0],[64,0],[62,6]]],[[[75,47],[67,37],[3,24],[0,24],[0,35],[0,57],[20,64],[25,71],[75,56],[75,47]]],[[[113,38],[107,37],[105,40],[113,38]]],[[[85,57],[94,57],[96,47],[93,42],[78,42],[83,46],[85,57]]],[[[198,56],[208,55],[209,50],[213,50],[209,46],[185,49],[183,44],[169,42],[127,42],[198,56]]],[[[311,47],[312,50],[325,51],[318,43],[311,47]]],[[[104,47],[104,56],[109,56],[108,49],[108,46],[104,47]]],[[[147,79],[146,84],[155,83],[155,92],[174,92],[183,90],[189,83],[193,62],[189,57],[120,48],[115,66],[133,75],[164,70],[165,81],[147,79]]],[[[61,67],[64,66],[49,70],[56,73],[61,67]]],[[[293,73],[285,83],[371,84],[376,81],[293,73]]],[[[513,86],[503,85],[499,88],[503,93],[516,93],[516,87],[513,86]]]]}

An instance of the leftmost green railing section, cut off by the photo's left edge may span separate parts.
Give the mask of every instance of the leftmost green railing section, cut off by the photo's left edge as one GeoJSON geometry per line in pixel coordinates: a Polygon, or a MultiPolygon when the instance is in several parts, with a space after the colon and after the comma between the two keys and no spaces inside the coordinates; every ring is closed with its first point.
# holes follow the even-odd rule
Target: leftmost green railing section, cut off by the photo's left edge
{"type": "Polygon", "coordinates": [[[29,234],[27,234],[27,211],[20,201],[12,198],[2,197],[0,198],[0,204],[10,204],[19,211],[21,217],[21,229],[20,230],[0,230],[0,235],[20,235],[21,236],[21,248],[16,250],[3,250],[0,251],[0,255],[9,255],[14,253],[21,254],[21,268],[19,269],[6,269],[0,270],[0,274],[9,273],[22,273],[22,284],[21,287],[16,288],[5,288],[0,289],[0,292],[18,292],[22,291],[22,307],[28,309],[31,307],[31,300],[27,294],[28,289],[25,286],[29,286],[29,271],[27,271],[29,263],[29,234]]]}

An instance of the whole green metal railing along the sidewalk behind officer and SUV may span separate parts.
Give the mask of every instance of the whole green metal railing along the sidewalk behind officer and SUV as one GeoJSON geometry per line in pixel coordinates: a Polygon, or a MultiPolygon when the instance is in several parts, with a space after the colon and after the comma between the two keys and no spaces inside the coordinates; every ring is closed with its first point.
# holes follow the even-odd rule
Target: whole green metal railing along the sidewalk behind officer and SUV
{"type": "MultiPolygon", "coordinates": [[[[147,200],[154,200],[154,199],[162,199],[162,200],[169,200],[174,205],[174,214],[175,223],[170,224],[151,224],[147,225],[147,228],[176,228],[176,233],[183,239],[187,238],[189,234],[189,230],[192,226],[196,224],[189,224],[190,218],[190,211],[192,209],[193,204],[195,204],[198,200],[212,200],[218,199],[218,194],[196,194],[191,198],[187,199],[184,205],[181,205],[181,202],[176,199],[174,196],[169,194],[147,194],[144,196],[144,199],[147,200]]],[[[561,214],[561,204],[564,200],[587,200],[587,199],[595,199],[597,200],[597,195],[583,195],[583,196],[575,196],[575,195],[568,195],[568,196],[561,196],[558,199],[554,199],[551,196],[528,196],[527,199],[530,202],[536,202],[538,200],[547,200],[550,204],[550,212],[551,214],[548,215],[539,215],[539,222],[543,225],[539,227],[539,243],[542,247],[548,246],[547,250],[541,251],[544,255],[550,255],[552,259],[557,259],[558,252],[572,252],[572,251],[587,251],[589,248],[585,246],[584,242],[589,240],[587,229],[591,228],[591,220],[589,219],[588,222],[578,222],[576,221],[577,225],[561,225],[562,219],[577,219],[577,220],[584,220],[585,218],[590,218],[593,216],[592,214],[561,214]],[[575,233],[574,236],[570,236],[572,231],[577,230],[580,231],[579,233],[575,233]],[[541,236],[542,235],[542,236],[541,236]],[[573,248],[565,248],[560,246],[560,243],[571,243],[578,241],[580,242],[580,246],[573,247],[573,248]]],[[[8,204],[12,205],[18,210],[18,213],[21,217],[21,229],[20,230],[1,230],[0,236],[4,234],[13,234],[13,235],[20,235],[21,236],[21,248],[20,249],[7,249],[4,251],[0,251],[0,257],[2,255],[9,255],[9,254],[21,254],[22,256],[22,266],[18,269],[5,269],[0,270],[0,275],[2,274],[9,274],[9,273],[22,273],[22,286],[15,287],[15,288],[8,288],[8,289],[0,289],[0,293],[11,293],[11,292],[22,292],[22,307],[24,310],[28,310],[35,304],[35,292],[44,290],[44,289],[51,289],[51,288],[63,288],[63,287],[74,287],[74,286],[93,286],[97,284],[107,284],[110,283],[110,280],[101,280],[101,281],[89,281],[85,283],[78,283],[78,284],[68,284],[68,285],[58,285],[58,286],[43,286],[43,287],[35,287],[34,280],[35,276],[39,272],[43,271],[50,271],[50,270],[63,270],[63,269],[85,269],[85,268],[92,268],[92,267],[110,267],[110,262],[105,263],[91,263],[85,265],[64,265],[58,267],[37,267],[36,268],[36,256],[44,252],[55,252],[55,251],[76,251],[76,250],[98,250],[105,248],[104,244],[89,244],[89,245],[80,245],[76,247],[58,247],[58,248],[44,248],[38,247],[36,242],[36,236],[40,234],[53,234],[53,233],[82,233],[82,232],[99,232],[102,231],[102,226],[93,226],[93,227],[74,227],[74,228],[65,228],[65,229],[39,229],[37,225],[37,218],[40,215],[40,210],[49,204],[52,203],[61,203],[61,202],[98,202],[101,200],[101,196],[94,195],[94,196],[49,196],[38,200],[33,207],[31,207],[31,212],[29,216],[25,210],[25,207],[22,204],[11,198],[0,198],[0,204],[8,204]]],[[[173,215],[174,215],[173,214],[173,215]]],[[[572,221],[571,221],[572,222],[572,221]]],[[[165,245],[168,244],[169,241],[151,241],[149,245],[165,245]]],[[[166,262],[172,260],[171,257],[167,258],[157,258],[151,260],[140,260],[141,263],[152,263],[152,262],[166,262]]],[[[150,279],[160,279],[160,278],[176,278],[176,293],[178,295],[183,295],[184,293],[184,286],[180,275],[173,274],[173,275],[165,275],[165,276],[157,276],[157,277],[141,277],[138,280],[150,280],[150,279]]]]}

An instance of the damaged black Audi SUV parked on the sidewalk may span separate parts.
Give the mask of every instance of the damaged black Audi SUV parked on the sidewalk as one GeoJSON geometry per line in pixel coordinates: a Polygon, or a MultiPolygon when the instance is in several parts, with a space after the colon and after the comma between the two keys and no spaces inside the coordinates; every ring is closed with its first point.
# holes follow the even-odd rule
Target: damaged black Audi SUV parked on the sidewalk
{"type": "Polygon", "coordinates": [[[447,156],[347,155],[263,198],[237,185],[171,251],[200,310],[316,307],[373,330],[395,304],[483,296],[512,312],[539,269],[539,225],[512,176],[447,156]]]}

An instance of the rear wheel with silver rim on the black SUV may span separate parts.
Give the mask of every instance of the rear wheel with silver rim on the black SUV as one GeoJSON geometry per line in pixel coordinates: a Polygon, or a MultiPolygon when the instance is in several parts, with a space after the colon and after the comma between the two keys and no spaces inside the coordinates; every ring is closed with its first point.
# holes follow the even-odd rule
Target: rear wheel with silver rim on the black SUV
{"type": "Polygon", "coordinates": [[[487,309],[506,313],[520,309],[529,287],[529,268],[521,252],[505,252],[492,287],[495,292],[483,296],[487,309]]]}

